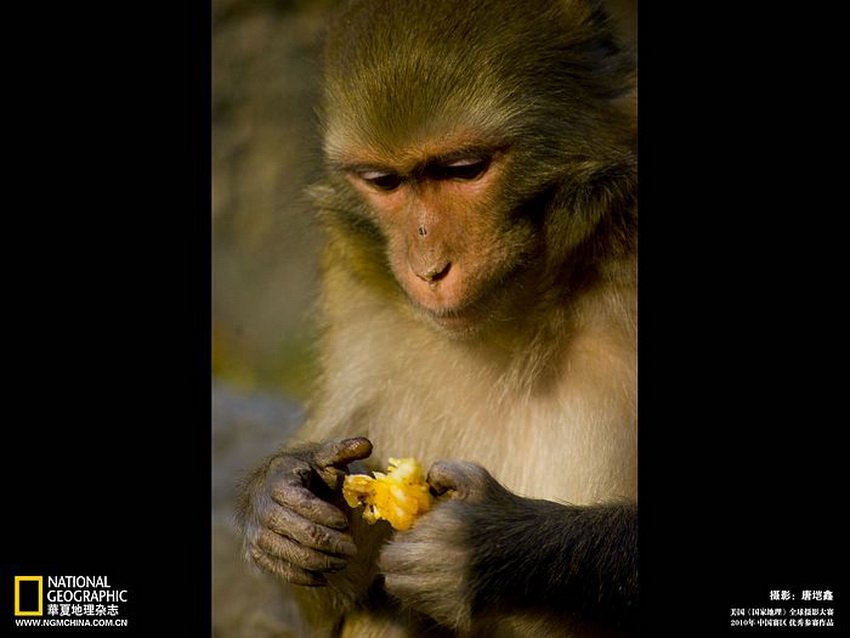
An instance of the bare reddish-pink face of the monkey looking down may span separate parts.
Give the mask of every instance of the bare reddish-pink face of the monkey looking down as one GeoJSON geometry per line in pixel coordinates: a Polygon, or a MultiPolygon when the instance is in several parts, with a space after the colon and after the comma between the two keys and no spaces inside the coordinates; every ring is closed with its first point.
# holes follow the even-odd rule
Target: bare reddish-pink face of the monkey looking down
{"type": "Polygon", "coordinates": [[[506,300],[534,232],[504,196],[508,151],[443,142],[353,152],[339,164],[385,239],[393,276],[429,320],[468,334],[515,305],[506,300]]]}

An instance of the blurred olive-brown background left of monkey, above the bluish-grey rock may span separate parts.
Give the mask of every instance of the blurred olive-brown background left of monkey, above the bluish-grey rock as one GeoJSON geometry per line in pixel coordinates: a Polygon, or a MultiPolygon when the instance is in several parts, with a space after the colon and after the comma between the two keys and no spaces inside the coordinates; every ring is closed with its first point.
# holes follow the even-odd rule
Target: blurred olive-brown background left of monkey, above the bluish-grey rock
{"type": "Polygon", "coordinates": [[[310,369],[324,0],[213,2],[213,373],[297,398],[310,369]]]}

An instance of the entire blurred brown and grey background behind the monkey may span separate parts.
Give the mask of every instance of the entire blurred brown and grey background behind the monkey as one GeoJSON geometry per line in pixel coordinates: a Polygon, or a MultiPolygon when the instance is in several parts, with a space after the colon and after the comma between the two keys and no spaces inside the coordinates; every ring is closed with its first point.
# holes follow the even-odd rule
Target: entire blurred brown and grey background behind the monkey
{"type": "MultiPolygon", "coordinates": [[[[295,431],[315,370],[319,43],[337,0],[212,0],[213,634],[301,637],[239,560],[235,486],[295,431]]],[[[635,0],[612,0],[627,39],[635,0]]]]}

